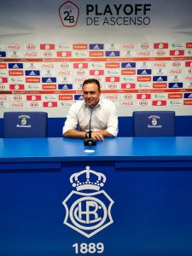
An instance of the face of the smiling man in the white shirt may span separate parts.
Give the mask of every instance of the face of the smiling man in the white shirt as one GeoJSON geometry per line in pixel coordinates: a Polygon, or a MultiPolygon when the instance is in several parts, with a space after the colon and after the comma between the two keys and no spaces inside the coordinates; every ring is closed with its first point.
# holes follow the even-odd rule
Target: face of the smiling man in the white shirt
{"type": "Polygon", "coordinates": [[[87,106],[92,104],[96,106],[99,102],[100,91],[95,83],[84,84],[83,86],[84,102],[87,106]]]}

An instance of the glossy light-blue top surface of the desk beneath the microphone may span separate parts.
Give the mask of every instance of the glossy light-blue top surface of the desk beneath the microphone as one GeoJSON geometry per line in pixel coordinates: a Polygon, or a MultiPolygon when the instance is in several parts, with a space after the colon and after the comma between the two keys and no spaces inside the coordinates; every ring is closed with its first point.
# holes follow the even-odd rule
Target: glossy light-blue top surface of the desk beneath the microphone
{"type": "Polygon", "coordinates": [[[192,160],[192,137],[116,137],[84,152],[81,139],[0,139],[0,162],[71,160],[192,160]]]}

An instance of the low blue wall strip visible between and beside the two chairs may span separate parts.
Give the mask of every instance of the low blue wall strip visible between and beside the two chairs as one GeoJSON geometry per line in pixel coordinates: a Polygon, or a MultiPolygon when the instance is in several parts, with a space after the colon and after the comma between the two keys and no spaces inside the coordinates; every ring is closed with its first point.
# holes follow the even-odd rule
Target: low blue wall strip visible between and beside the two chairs
{"type": "MultiPolygon", "coordinates": [[[[48,119],[48,137],[61,137],[64,118],[48,119]]],[[[192,116],[176,116],[176,136],[192,136],[192,116]]],[[[0,119],[0,137],[3,137],[3,119],[0,119]]],[[[119,117],[119,137],[132,137],[132,118],[119,117]]]]}

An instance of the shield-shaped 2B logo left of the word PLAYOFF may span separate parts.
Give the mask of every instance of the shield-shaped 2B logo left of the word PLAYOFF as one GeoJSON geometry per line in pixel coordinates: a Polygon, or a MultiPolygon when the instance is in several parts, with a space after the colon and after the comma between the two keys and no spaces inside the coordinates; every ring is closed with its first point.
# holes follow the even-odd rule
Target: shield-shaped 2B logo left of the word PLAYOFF
{"type": "Polygon", "coordinates": [[[63,26],[76,26],[79,19],[79,7],[76,4],[70,1],[63,3],[59,13],[63,26]]]}

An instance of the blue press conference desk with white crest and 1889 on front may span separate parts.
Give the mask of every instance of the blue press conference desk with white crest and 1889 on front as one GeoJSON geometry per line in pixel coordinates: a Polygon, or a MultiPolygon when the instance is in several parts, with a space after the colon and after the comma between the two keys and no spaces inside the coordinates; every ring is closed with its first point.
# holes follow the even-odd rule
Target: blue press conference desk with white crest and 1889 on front
{"type": "Polygon", "coordinates": [[[84,149],[0,139],[1,256],[192,255],[192,137],[84,149]]]}

